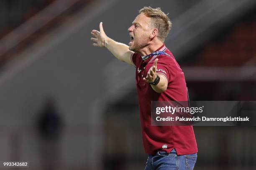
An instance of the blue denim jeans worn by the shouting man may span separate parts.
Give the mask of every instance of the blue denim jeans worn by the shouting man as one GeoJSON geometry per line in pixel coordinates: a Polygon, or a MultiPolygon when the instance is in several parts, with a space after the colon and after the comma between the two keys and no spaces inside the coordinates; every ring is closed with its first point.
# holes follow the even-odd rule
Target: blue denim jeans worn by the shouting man
{"type": "Polygon", "coordinates": [[[197,161],[197,153],[177,155],[173,149],[170,153],[158,152],[149,155],[145,170],[193,170],[197,161]]]}

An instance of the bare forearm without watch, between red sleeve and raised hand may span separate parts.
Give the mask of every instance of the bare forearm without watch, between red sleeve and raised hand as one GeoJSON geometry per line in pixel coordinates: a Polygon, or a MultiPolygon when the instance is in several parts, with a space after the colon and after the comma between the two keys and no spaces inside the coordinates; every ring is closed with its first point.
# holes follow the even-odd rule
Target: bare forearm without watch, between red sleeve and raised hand
{"type": "Polygon", "coordinates": [[[115,40],[111,39],[110,37],[107,37],[105,39],[105,45],[106,48],[120,61],[128,62],[129,64],[132,64],[131,62],[131,54],[132,51],[129,50],[128,45],[125,45],[120,42],[116,42],[115,40]]]}

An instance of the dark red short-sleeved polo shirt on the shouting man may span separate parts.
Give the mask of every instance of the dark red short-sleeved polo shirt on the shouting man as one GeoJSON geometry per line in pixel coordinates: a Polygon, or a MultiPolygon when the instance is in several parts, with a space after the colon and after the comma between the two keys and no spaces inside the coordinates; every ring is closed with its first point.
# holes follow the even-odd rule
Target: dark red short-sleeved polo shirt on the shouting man
{"type": "Polygon", "coordinates": [[[154,55],[144,61],[138,53],[131,55],[131,60],[136,67],[136,87],[145,152],[151,155],[158,151],[170,153],[175,148],[177,155],[197,153],[192,125],[151,126],[151,101],[187,101],[187,86],[179,64],[164,44],[156,51],[164,51],[170,57],[154,55]],[[155,92],[151,85],[143,80],[156,58],[159,59],[157,74],[165,75],[168,80],[167,89],[161,93],[155,92]],[[167,145],[167,148],[163,148],[163,145],[167,145]]]}

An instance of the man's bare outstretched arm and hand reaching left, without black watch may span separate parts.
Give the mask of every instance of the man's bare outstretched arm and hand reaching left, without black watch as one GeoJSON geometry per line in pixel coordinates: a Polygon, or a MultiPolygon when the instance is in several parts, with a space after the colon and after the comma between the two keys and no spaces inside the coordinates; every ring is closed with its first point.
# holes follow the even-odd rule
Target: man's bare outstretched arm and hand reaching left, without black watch
{"type": "Polygon", "coordinates": [[[128,45],[116,42],[108,37],[103,30],[102,22],[100,22],[100,31],[92,30],[91,34],[95,37],[91,38],[95,42],[92,44],[93,46],[106,47],[118,60],[133,65],[131,61],[133,52],[129,50],[128,45]]]}

